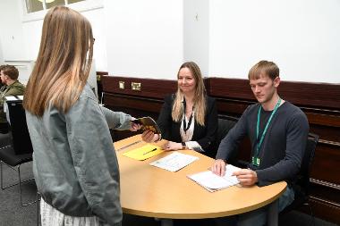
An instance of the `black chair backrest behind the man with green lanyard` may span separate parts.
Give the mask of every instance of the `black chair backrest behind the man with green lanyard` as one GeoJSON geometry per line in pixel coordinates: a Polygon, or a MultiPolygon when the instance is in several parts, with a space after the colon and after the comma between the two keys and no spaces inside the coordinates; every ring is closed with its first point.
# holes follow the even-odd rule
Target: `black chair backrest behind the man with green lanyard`
{"type": "Polygon", "coordinates": [[[310,168],[311,163],[314,160],[315,149],[319,141],[319,136],[313,133],[309,133],[306,149],[302,158],[301,170],[298,174],[297,185],[302,188],[302,192],[307,197],[310,194],[310,168]]]}

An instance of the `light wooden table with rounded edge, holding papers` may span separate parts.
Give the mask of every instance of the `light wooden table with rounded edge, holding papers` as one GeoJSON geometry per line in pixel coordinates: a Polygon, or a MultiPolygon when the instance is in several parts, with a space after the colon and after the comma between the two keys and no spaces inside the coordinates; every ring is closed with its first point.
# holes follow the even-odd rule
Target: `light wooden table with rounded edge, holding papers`
{"type": "MultiPolygon", "coordinates": [[[[140,135],[117,141],[115,149],[137,140],[141,140],[140,135]]],[[[162,140],[155,145],[161,146],[165,142],[162,140]]],[[[268,225],[277,225],[276,200],[285,191],[285,181],[261,188],[234,186],[211,193],[186,175],[206,171],[214,162],[212,158],[192,150],[180,150],[183,154],[195,155],[200,159],[178,172],[168,172],[149,163],[171,152],[164,152],[145,161],[122,155],[145,144],[140,142],[117,151],[123,213],[161,219],[200,219],[245,213],[271,204],[268,225]]],[[[171,222],[165,221],[164,224],[171,225],[171,222]]]]}

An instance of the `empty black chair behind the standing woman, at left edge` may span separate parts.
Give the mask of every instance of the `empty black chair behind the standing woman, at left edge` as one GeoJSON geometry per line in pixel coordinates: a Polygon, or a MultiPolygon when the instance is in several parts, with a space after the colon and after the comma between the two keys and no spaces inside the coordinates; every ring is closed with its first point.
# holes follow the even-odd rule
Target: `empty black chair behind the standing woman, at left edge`
{"type": "Polygon", "coordinates": [[[22,108],[22,101],[7,100],[9,119],[11,122],[11,133],[7,145],[0,147],[0,171],[1,171],[1,188],[10,188],[19,184],[20,201],[22,206],[31,205],[37,200],[29,203],[22,203],[21,184],[29,180],[21,180],[21,164],[32,161],[33,147],[30,142],[30,134],[26,124],[25,112],[22,108]],[[12,139],[11,139],[12,138],[12,139]],[[3,164],[18,172],[19,182],[4,187],[3,164]]]}

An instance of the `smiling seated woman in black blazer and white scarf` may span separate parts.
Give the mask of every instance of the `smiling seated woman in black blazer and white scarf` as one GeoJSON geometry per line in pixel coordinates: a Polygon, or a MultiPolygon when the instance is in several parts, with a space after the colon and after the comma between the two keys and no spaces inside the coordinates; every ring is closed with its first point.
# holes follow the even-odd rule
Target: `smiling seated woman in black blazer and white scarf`
{"type": "Polygon", "coordinates": [[[145,131],[142,138],[155,142],[165,138],[163,148],[169,150],[193,149],[214,156],[217,135],[217,106],[214,98],[207,96],[199,66],[183,63],[177,73],[177,92],[166,96],[157,124],[161,135],[145,131]]]}

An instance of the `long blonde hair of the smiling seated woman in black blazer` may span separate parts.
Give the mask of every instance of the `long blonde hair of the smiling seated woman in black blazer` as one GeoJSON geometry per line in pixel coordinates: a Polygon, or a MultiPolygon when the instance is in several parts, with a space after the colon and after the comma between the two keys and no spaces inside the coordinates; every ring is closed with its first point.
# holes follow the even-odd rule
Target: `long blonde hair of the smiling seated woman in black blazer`
{"type": "MultiPolygon", "coordinates": [[[[194,80],[196,81],[195,96],[193,98],[193,105],[195,108],[195,121],[197,121],[201,126],[204,126],[204,118],[206,115],[206,88],[204,86],[200,68],[194,62],[183,63],[178,70],[177,79],[179,77],[181,69],[183,68],[188,68],[191,71],[194,80]]],[[[174,121],[178,122],[182,120],[183,113],[183,92],[180,88],[177,88],[171,116],[174,121]]]]}

